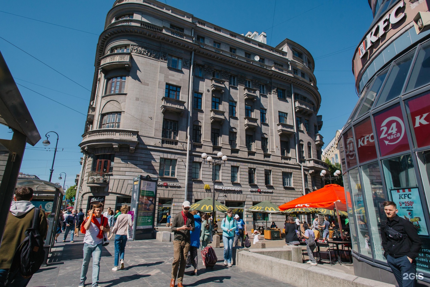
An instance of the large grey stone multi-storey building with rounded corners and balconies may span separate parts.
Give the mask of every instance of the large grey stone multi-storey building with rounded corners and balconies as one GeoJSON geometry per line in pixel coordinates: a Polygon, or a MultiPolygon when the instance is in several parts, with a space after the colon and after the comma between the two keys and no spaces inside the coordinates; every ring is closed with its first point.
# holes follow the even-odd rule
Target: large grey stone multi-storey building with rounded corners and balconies
{"type": "MultiPolygon", "coordinates": [[[[321,96],[310,53],[228,31],[158,1],[118,0],[99,37],[79,207],[129,204],[159,178],[156,224],[212,197],[244,214],[321,187],[321,96]],[[202,153],[228,157],[212,169],[202,153]],[[210,188],[206,188],[206,187],[210,188]]],[[[269,218],[275,220],[276,216],[269,218]]],[[[279,216],[279,223],[285,216],[279,216]]]]}

